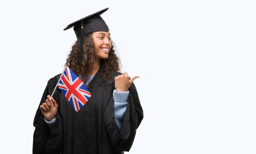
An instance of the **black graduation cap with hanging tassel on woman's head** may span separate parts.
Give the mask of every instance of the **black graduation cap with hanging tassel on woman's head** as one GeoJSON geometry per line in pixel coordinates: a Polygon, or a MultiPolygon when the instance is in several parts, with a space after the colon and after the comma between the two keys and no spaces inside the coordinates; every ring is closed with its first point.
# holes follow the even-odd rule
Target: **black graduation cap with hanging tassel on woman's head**
{"type": "Polygon", "coordinates": [[[109,31],[108,25],[106,22],[100,17],[105,11],[107,11],[108,8],[105,8],[101,11],[98,11],[96,13],[90,14],[81,20],[77,20],[73,23],[70,23],[67,25],[66,28],[64,28],[64,31],[74,27],[74,31],[76,34],[76,38],[80,38],[80,52],[79,52],[79,64],[81,64],[82,54],[83,54],[83,42],[84,42],[84,36],[86,34],[96,32],[96,31],[109,31]]]}

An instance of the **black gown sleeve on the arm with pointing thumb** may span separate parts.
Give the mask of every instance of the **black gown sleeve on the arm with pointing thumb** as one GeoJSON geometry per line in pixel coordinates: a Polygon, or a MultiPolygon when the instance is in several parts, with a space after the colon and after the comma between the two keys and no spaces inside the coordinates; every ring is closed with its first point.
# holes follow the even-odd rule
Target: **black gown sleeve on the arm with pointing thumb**
{"type": "Polygon", "coordinates": [[[128,89],[128,104],[125,111],[122,134],[119,134],[114,115],[113,96],[105,110],[105,129],[116,151],[130,151],[137,128],[143,120],[143,109],[134,83],[128,89]]]}

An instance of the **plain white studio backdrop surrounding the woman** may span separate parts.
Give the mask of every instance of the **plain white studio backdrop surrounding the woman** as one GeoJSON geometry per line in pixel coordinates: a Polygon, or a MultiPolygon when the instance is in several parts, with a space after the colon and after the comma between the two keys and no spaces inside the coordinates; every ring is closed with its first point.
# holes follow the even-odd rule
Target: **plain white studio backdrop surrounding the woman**
{"type": "Polygon", "coordinates": [[[144,119],[127,154],[256,153],[251,0],[1,0],[0,153],[32,154],[33,120],[73,29],[103,8],[144,119]]]}

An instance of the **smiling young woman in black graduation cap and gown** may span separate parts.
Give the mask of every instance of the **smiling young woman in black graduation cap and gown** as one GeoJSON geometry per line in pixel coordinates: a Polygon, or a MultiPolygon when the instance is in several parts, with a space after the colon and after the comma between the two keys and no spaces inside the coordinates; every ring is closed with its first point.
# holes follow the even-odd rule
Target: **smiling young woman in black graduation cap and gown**
{"type": "Polygon", "coordinates": [[[129,151],[143,109],[133,81],[119,73],[105,8],[71,23],[77,41],[67,66],[87,86],[91,97],[79,112],[58,87],[61,74],[50,78],[35,115],[33,154],[122,154],[129,151]],[[52,95],[52,97],[50,97],[52,95]]]}

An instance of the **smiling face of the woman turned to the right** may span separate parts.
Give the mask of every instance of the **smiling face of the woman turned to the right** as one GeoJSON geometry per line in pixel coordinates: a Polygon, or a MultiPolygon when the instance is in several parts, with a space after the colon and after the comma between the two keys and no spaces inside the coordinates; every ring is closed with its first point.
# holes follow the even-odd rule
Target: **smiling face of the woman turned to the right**
{"type": "Polygon", "coordinates": [[[110,33],[105,31],[93,32],[93,42],[97,59],[107,59],[111,49],[110,33]]]}

